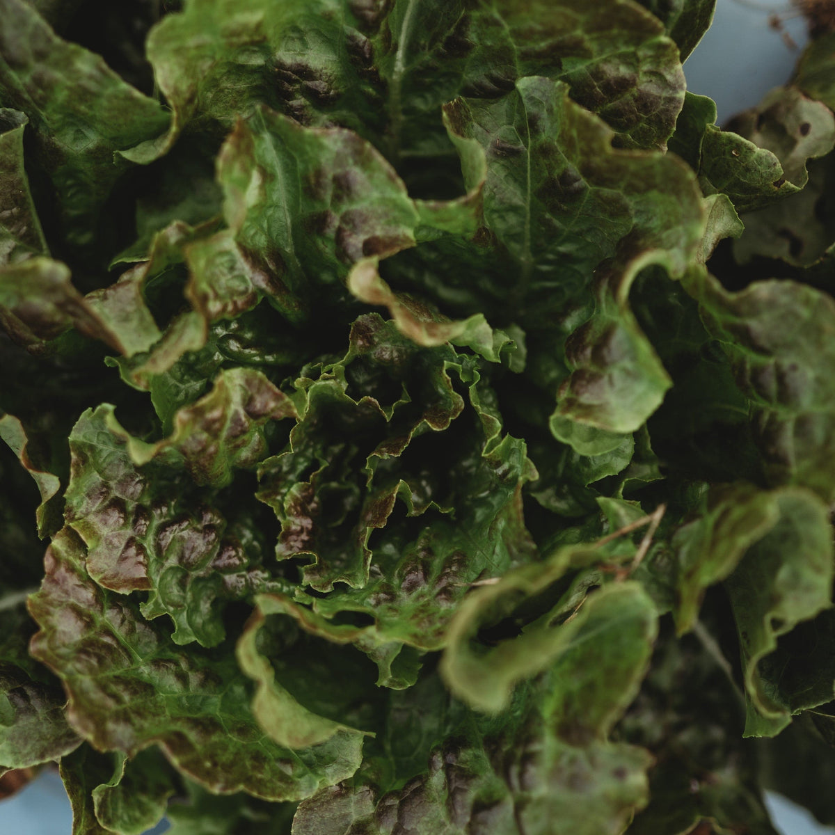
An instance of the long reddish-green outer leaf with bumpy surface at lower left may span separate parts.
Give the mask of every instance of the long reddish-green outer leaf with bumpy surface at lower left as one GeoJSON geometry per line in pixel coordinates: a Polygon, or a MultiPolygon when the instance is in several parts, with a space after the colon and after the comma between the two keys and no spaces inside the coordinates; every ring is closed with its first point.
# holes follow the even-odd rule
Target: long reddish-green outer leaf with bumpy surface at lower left
{"type": "Polygon", "coordinates": [[[83,543],[63,529],[31,600],[41,627],[32,651],[63,680],[70,721],[95,747],[133,756],[155,742],[211,791],[271,800],[307,797],[356,771],[356,735],[302,751],[276,746],[256,724],[229,655],[185,654],[132,600],[89,579],[83,559],[83,543]]]}

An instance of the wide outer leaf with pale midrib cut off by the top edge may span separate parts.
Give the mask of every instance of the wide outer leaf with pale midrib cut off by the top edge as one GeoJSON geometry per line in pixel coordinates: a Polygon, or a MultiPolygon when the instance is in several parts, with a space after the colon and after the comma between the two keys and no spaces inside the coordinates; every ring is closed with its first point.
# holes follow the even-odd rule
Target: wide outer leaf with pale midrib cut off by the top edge
{"type": "Polygon", "coordinates": [[[492,98],[526,75],[566,81],[625,142],[662,147],[684,93],[676,45],[636,3],[598,12],[576,0],[189,3],[148,43],[174,109],[170,134],[129,157],[149,161],[186,124],[228,128],[262,104],[301,124],[345,125],[392,161],[445,154],[445,101],[467,91],[492,98]],[[230,78],[234,97],[224,90],[230,78]]]}

